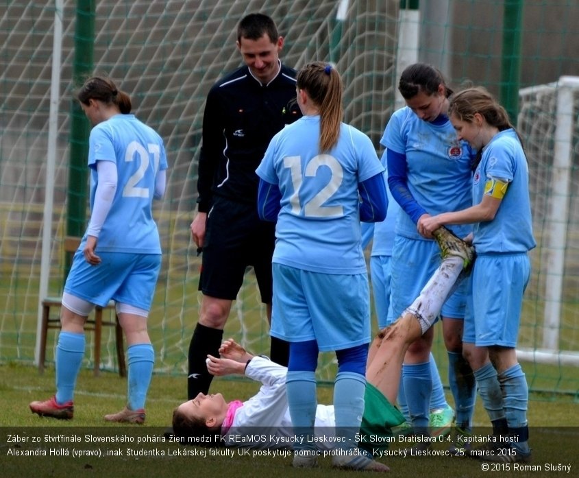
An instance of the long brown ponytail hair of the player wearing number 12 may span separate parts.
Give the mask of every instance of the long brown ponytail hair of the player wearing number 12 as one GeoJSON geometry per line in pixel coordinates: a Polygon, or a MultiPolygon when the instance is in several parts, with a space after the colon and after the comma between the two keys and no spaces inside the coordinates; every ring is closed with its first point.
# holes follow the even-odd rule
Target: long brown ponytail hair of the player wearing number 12
{"type": "Polygon", "coordinates": [[[343,118],[342,79],[331,64],[312,62],[299,70],[297,88],[305,90],[320,112],[320,151],[338,142],[343,118]]]}

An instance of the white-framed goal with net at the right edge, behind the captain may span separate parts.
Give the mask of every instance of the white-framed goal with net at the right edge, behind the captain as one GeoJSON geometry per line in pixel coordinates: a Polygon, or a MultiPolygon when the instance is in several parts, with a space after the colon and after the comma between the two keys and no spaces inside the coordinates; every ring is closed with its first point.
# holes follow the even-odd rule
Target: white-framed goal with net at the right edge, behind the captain
{"type": "MultiPolygon", "coordinates": [[[[579,365],[579,77],[519,92],[534,234],[519,358],[579,365]]],[[[557,377],[553,378],[557,380],[557,377]]]]}

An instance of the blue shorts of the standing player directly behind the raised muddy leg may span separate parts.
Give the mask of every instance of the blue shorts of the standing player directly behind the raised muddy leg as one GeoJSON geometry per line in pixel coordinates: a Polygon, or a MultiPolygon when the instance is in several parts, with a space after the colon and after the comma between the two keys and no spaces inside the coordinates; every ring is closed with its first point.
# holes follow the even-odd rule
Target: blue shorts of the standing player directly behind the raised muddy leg
{"type": "MultiPolygon", "coordinates": [[[[428,283],[441,265],[441,252],[436,241],[408,239],[397,235],[392,250],[392,313],[398,318],[428,283]]],[[[443,304],[441,316],[463,319],[467,296],[465,281],[443,304]]]]}

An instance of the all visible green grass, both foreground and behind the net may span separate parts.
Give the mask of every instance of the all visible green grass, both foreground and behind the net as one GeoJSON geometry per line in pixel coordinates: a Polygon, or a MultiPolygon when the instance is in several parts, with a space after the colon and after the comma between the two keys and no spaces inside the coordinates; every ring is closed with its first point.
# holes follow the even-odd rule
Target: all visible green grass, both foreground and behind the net
{"type": "MultiPolygon", "coordinates": [[[[253,457],[241,455],[212,456],[208,449],[184,447],[157,441],[149,444],[100,444],[82,445],[70,442],[49,441],[60,435],[108,438],[135,435],[136,438],[162,438],[171,420],[173,407],[186,398],[184,370],[186,370],[186,348],[190,333],[197,319],[198,294],[196,281],[188,280],[158,287],[156,301],[149,319],[149,333],[156,350],[156,374],[147,398],[147,423],[144,427],[123,427],[103,422],[102,416],[121,409],[125,404],[126,381],[114,370],[114,334],[103,331],[103,372],[94,377],[92,368],[92,334],[87,335],[87,353],[75,394],[75,418],[72,422],[42,419],[30,413],[28,403],[45,399],[54,392],[53,347],[56,333],[52,331],[47,346],[47,370],[39,375],[32,366],[36,339],[36,310],[34,297],[37,290],[35,280],[30,278],[0,278],[0,292],[6,297],[5,307],[0,311],[0,477],[127,477],[149,478],[159,475],[170,477],[229,476],[241,477],[322,477],[330,473],[329,459],[321,460],[316,470],[295,470],[289,457],[253,457]],[[16,283],[16,285],[15,285],[16,283]],[[15,290],[26,290],[28,300],[19,300],[15,290]],[[40,442],[8,442],[8,435],[19,435],[40,442]],[[46,457],[14,455],[15,451],[52,449],[59,455],[46,457]],[[106,457],[71,455],[73,449],[100,451],[101,453],[123,451],[123,456],[106,457]],[[160,456],[127,455],[127,450],[162,452],[160,456]],[[197,456],[179,455],[183,449],[193,450],[197,456]],[[69,455],[64,454],[69,451],[69,455]],[[204,456],[200,455],[205,453],[204,456]]],[[[58,287],[57,287],[58,288],[58,287]]],[[[264,321],[254,287],[243,291],[241,300],[236,301],[227,322],[226,335],[232,336],[258,353],[267,353],[267,323],[264,321]]],[[[537,300],[528,300],[523,309],[523,324],[528,336],[534,337],[541,323],[538,317],[541,307],[537,300]]],[[[576,335],[577,307],[564,309],[562,323],[565,337],[573,343],[576,335]]],[[[375,323],[375,322],[374,322],[375,323]]],[[[441,327],[436,328],[434,355],[441,370],[443,382],[447,380],[445,367],[447,358],[441,339],[441,327]]],[[[321,360],[324,365],[323,379],[333,377],[335,366],[333,355],[321,360]]],[[[533,391],[529,404],[531,445],[534,470],[515,469],[513,464],[502,468],[489,468],[470,459],[450,457],[402,458],[386,457],[380,461],[391,467],[391,476],[410,477],[428,473],[429,478],[478,477],[489,471],[516,473],[522,477],[579,476],[579,457],[576,443],[579,439],[579,368],[563,365],[522,363],[523,370],[533,391]],[[571,473],[546,470],[545,464],[571,464],[571,473]],[[539,469],[540,468],[540,469],[539,469]]],[[[258,385],[247,379],[216,379],[212,390],[223,392],[227,399],[247,398],[258,390],[258,385]]],[[[452,398],[448,396],[449,403],[452,398]]],[[[319,403],[331,403],[332,388],[325,384],[319,387],[319,403]]],[[[489,424],[484,409],[477,403],[475,425],[489,424]]],[[[480,433],[488,433],[481,429],[480,433]]],[[[436,450],[447,449],[447,443],[434,445],[436,450]]],[[[404,444],[392,444],[392,449],[404,444]]],[[[338,473],[338,472],[334,472],[338,473]]],[[[356,475],[355,472],[339,472],[339,476],[356,475]]]]}

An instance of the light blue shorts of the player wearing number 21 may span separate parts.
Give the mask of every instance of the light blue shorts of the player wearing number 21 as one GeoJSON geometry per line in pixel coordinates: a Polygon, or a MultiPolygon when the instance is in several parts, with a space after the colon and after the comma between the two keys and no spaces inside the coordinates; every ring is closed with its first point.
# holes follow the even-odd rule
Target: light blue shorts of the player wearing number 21
{"type": "Polygon", "coordinates": [[[64,291],[101,307],[109,300],[129,304],[145,311],[151,309],[161,269],[160,254],[98,252],[99,265],[84,260],[77,250],[64,291]]]}

